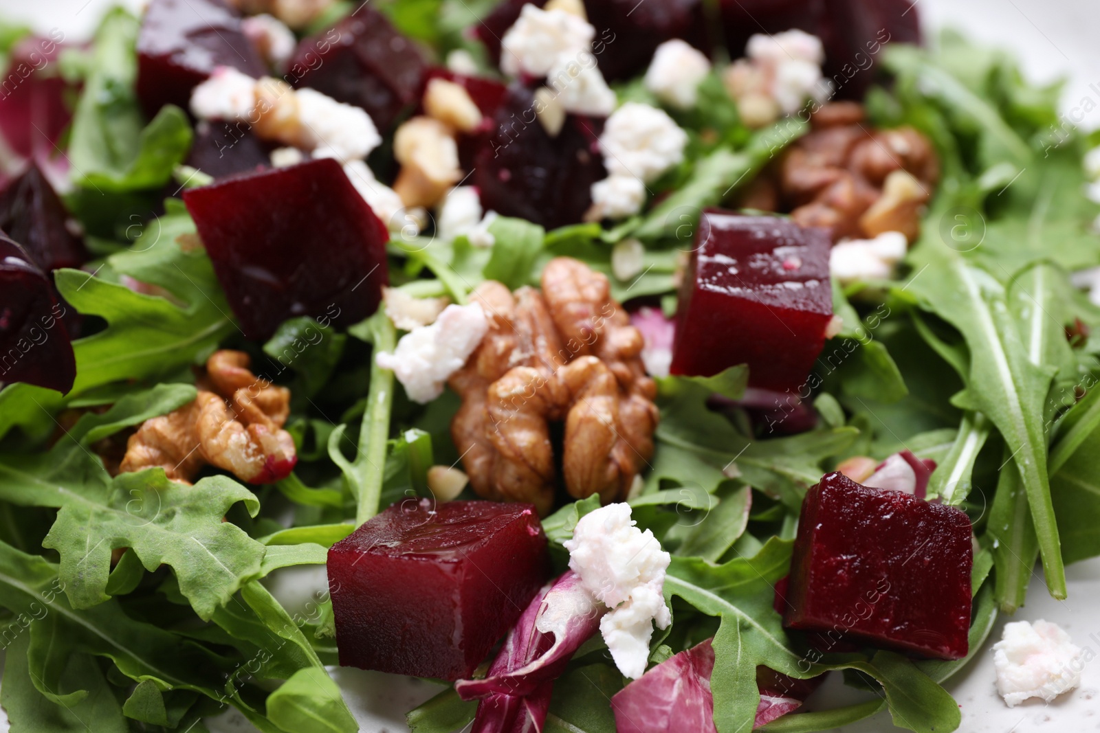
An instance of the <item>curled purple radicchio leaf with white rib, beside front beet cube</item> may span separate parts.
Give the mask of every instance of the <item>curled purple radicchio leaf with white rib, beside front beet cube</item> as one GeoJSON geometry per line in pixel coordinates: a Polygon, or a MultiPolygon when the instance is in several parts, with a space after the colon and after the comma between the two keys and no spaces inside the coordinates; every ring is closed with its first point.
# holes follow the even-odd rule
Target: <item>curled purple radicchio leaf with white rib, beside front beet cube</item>
{"type": "Polygon", "coordinates": [[[541,731],[553,680],[600,629],[604,610],[572,570],[543,587],[508,632],[485,679],[454,684],[463,700],[481,700],[471,733],[541,731]]]}

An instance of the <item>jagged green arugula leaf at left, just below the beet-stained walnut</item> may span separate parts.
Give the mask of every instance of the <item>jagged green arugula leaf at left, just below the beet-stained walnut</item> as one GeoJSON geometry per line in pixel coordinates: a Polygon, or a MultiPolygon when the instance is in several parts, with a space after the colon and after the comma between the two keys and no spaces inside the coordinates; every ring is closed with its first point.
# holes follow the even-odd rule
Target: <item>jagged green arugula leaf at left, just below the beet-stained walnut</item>
{"type": "Polygon", "coordinates": [[[170,566],[204,619],[260,573],[264,546],[222,521],[238,501],[253,515],[260,510],[246,488],[224,476],[177,484],[163,468],[111,478],[87,447],[194,396],[188,385],[161,385],[102,414],[86,414],[47,453],[0,456],[0,499],[58,509],[43,545],[61,554],[62,581],[75,608],[107,600],[116,547],[130,547],[146,570],[170,566]]]}

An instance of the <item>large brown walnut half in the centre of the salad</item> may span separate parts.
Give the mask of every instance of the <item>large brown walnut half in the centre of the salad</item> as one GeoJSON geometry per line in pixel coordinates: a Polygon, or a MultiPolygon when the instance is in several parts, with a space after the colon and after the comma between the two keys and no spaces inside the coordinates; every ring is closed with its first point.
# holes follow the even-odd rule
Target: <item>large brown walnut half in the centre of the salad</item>
{"type": "Polygon", "coordinates": [[[483,282],[490,330],[452,375],[462,407],[451,435],[474,490],[550,511],[558,484],[551,423],[564,422],[561,474],[575,498],[624,499],[653,453],[657,387],[644,341],[606,276],[550,260],[541,292],[483,282]]]}

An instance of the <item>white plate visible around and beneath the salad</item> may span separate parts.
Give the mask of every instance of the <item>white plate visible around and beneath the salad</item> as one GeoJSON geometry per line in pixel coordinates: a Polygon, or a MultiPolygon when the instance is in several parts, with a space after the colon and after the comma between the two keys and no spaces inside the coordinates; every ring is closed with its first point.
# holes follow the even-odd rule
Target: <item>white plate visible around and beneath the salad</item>
{"type": "MultiPolygon", "coordinates": [[[[57,27],[68,40],[90,33],[111,0],[0,0],[0,16],[22,19],[42,31],[57,27]]],[[[141,0],[123,4],[139,8],[141,0]]],[[[916,0],[925,26],[952,25],[975,38],[1009,47],[1023,60],[1024,74],[1034,81],[1068,77],[1062,100],[1064,121],[1085,130],[1100,127],[1100,2],[1097,0],[916,0]],[[1088,103],[1087,102],[1090,102],[1088,103]],[[1085,112],[1086,108],[1092,108],[1085,112]]],[[[1100,531],[1100,527],[1098,527],[1100,531]]],[[[1069,599],[1058,602],[1046,592],[1038,570],[1027,595],[1027,604],[1011,620],[1046,619],[1062,625],[1085,649],[1090,662],[1081,687],[1053,703],[1032,700],[1008,708],[993,688],[993,663],[988,647],[1000,638],[1009,619],[1000,619],[990,642],[966,669],[948,681],[947,689],[959,703],[965,733],[1031,733],[1100,730],[1100,558],[1070,566],[1067,570],[1069,599]]],[[[405,711],[427,700],[442,686],[420,680],[334,669],[333,677],[344,691],[352,712],[366,733],[403,733],[405,711]]],[[[823,710],[866,699],[845,688],[833,675],[809,701],[807,708],[823,710]]],[[[234,713],[210,722],[211,733],[252,733],[254,728],[234,713]]],[[[8,730],[0,710],[0,733],[8,730]]],[[[837,733],[882,733],[895,731],[888,713],[837,733]]]]}

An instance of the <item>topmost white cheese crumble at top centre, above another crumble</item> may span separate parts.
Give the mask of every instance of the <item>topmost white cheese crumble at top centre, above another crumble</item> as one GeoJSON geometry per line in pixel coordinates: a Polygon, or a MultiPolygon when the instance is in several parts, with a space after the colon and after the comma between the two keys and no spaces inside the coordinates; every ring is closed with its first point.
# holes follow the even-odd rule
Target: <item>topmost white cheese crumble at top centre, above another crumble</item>
{"type": "Polygon", "coordinates": [[[525,4],[501,40],[501,70],[544,77],[563,56],[581,60],[582,54],[591,55],[595,35],[591,23],[572,13],[525,4]]]}

